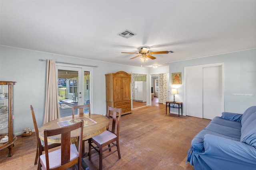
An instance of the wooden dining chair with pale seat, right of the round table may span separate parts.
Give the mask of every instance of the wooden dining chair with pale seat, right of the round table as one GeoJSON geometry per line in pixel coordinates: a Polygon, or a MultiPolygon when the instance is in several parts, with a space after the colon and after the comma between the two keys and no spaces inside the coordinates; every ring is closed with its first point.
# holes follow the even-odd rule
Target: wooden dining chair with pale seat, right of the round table
{"type": "Polygon", "coordinates": [[[89,160],[91,160],[92,148],[95,149],[100,154],[100,170],[102,170],[102,159],[106,158],[110,154],[114,152],[118,152],[118,158],[121,158],[120,148],[119,148],[119,129],[120,129],[120,118],[122,109],[114,108],[108,106],[107,117],[109,118],[110,111],[113,112],[112,116],[112,129],[111,131],[108,129],[99,135],[90,138],[89,141],[89,160]],[[118,115],[118,119],[116,119],[116,115],[118,115]],[[116,128],[117,124],[117,128],[116,128]],[[116,147],[115,150],[111,150],[112,147],[116,147]],[[108,150],[109,152],[104,154],[103,152],[108,150]]]}

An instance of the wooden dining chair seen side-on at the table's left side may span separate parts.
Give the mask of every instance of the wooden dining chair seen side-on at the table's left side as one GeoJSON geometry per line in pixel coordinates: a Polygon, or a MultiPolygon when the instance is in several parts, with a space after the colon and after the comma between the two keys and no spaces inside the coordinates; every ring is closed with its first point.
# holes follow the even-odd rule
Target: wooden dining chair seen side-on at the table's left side
{"type": "MultiPolygon", "coordinates": [[[[35,158],[35,163],[34,165],[36,165],[39,162],[39,157],[42,155],[42,152],[45,150],[44,148],[44,141],[42,141],[39,138],[39,133],[38,133],[38,127],[37,127],[37,123],[36,123],[36,117],[35,117],[35,113],[34,113],[34,109],[33,106],[30,105],[30,110],[31,110],[31,115],[32,115],[32,119],[33,119],[33,123],[34,123],[34,128],[35,128],[35,133],[36,133],[36,158],[35,158]]],[[[52,149],[55,147],[60,146],[60,143],[48,143],[48,149],[52,149]]],[[[38,163],[38,170],[40,170],[40,164],[38,163]]]]}

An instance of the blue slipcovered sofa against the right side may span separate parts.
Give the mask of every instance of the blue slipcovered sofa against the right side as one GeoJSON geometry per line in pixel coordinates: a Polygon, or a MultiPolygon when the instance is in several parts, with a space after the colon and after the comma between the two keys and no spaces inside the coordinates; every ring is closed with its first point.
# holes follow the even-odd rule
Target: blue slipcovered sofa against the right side
{"type": "Polygon", "coordinates": [[[187,162],[195,170],[256,170],[256,106],[214,117],[192,139],[187,162]]]}

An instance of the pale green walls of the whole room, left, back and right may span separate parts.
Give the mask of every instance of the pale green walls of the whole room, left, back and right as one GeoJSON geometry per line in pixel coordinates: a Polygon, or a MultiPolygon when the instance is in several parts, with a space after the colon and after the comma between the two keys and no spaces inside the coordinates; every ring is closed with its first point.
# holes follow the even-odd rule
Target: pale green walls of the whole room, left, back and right
{"type": "MultiPolygon", "coordinates": [[[[30,104],[34,106],[38,126],[40,127],[43,122],[46,62],[38,59],[98,66],[93,68],[94,92],[92,94],[94,97],[92,102],[96,104],[95,106],[100,106],[94,107],[93,110],[98,114],[106,112],[105,74],[107,73],[123,70],[128,73],[161,74],[168,73],[170,70],[170,73],[182,72],[182,80],[184,80],[184,66],[222,62],[224,63],[225,111],[243,112],[247,107],[256,105],[256,49],[179,61],[170,63],[169,67],[153,69],[0,46],[0,80],[17,82],[14,86],[14,121],[17,135],[23,133],[27,127],[34,129],[30,104]],[[232,93],[254,94],[254,96],[234,96],[231,95],[232,93]]],[[[177,100],[178,97],[179,101],[183,101],[182,90],[179,90],[177,97],[175,95],[177,100]]]]}

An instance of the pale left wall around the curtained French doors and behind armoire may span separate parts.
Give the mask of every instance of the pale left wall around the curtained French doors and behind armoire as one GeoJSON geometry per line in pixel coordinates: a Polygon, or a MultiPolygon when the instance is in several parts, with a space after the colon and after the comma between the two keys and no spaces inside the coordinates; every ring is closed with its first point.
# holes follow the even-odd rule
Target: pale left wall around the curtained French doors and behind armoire
{"type": "Polygon", "coordinates": [[[148,74],[148,68],[143,67],[126,66],[0,46],[0,80],[17,82],[14,86],[14,124],[17,135],[23,133],[27,127],[34,129],[30,104],[34,107],[38,127],[42,126],[44,119],[47,63],[38,61],[39,59],[53,59],[56,62],[98,66],[98,68],[93,68],[94,92],[92,94],[94,113],[98,114],[106,114],[105,74],[120,70],[128,73],[140,72],[142,74],[148,74]]]}

